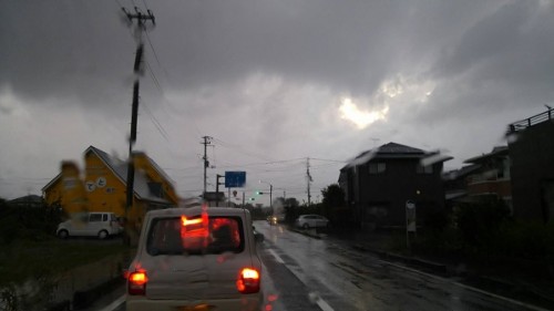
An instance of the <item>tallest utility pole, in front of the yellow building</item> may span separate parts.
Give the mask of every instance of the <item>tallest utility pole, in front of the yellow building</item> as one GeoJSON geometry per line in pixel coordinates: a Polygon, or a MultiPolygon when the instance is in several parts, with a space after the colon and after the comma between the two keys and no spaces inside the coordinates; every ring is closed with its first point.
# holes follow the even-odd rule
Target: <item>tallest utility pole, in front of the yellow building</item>
{"type": "Polygon", "coordinates": [[[129,218],[129,209],[133,207],[133,194],[134,194],[134,163],[133,163],[133,145],[136,142],[136,124],[138,118],[138,82],[140,76],[143,74],[142,69],[142,56],[144,54],[144,44],[142,41],[142,32],[146,30],[146,22],[151,21],[155,25],[155,18],[151,10],[147,13],[141,12],[138,8],[135,7],[135,13],[131,13],[125,8],[122,8],[123,13],[129,19],[130,24],[136,21],[135,25],[135,37],[136,37],[136,54],[135,62],[133,66],[133,72],[135,74],[135,82],[133,84],[133,104],[131,111],[131,135],[129,138],[129,166],[127,166],[127,196],[126,196],[126,207],[125,207],[125,218],[129,218]]]}

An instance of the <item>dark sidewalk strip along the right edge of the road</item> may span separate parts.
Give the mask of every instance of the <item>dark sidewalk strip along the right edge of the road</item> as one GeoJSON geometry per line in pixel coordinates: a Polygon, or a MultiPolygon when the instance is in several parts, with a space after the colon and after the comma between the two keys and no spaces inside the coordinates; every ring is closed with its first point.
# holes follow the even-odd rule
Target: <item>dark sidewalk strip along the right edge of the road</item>
{"type": "Polygon", "coordinates": [[[317,239],[335,239],[351,248],[371,253],[382,260],[454,279],[456,282],[493,294],[523,301],[545,310],[554,310],[554,280],[538,280],[522,273],[501,274],[494,269],[483,271],[463,262],[437,257],[410,255],[406,249],[406,237],[391,232],[316,232],[293,229],[317,239]]]}

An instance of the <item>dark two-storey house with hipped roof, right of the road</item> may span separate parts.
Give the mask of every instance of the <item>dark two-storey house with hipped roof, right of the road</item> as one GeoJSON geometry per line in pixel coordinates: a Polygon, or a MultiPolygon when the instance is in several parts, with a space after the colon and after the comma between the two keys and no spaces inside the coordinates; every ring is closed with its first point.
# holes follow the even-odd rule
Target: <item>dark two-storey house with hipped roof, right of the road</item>
{"type": "Polygon", "coordinates": [[[361,153],[339,176],[352,220],[362,229],[404,227],[410,200],[421,225],[428,211],[444,209],[442,168],[451,158],[397,143],[361,153]]]}

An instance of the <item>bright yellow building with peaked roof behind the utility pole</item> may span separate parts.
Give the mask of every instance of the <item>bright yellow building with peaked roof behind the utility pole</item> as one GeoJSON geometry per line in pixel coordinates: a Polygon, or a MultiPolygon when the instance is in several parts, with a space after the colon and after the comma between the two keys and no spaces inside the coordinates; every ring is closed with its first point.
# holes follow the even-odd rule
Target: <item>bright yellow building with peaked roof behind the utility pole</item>
{"type": "Polygon", "coordinates": [[[62,162],[61,173],[42,188],[47,204],[59,204],[68,214],[112,211],[138,226],[147,210],[177,205],[173,182],[146,154],[133,154],[134,196],[129,210],[125,210],[127,163],[93,146],[83,155],[82,173],[76,164],[62,162]]]}

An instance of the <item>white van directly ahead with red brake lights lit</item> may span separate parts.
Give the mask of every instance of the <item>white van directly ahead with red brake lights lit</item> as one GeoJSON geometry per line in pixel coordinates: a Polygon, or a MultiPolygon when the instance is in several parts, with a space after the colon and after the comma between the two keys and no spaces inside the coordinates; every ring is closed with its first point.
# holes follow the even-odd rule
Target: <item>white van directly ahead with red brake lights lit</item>
{"type": "Polygon", "coordinates": [[[261,310],[250,214],[205,205],[148,211],[126,278],[127,311],[261,310]]]}

